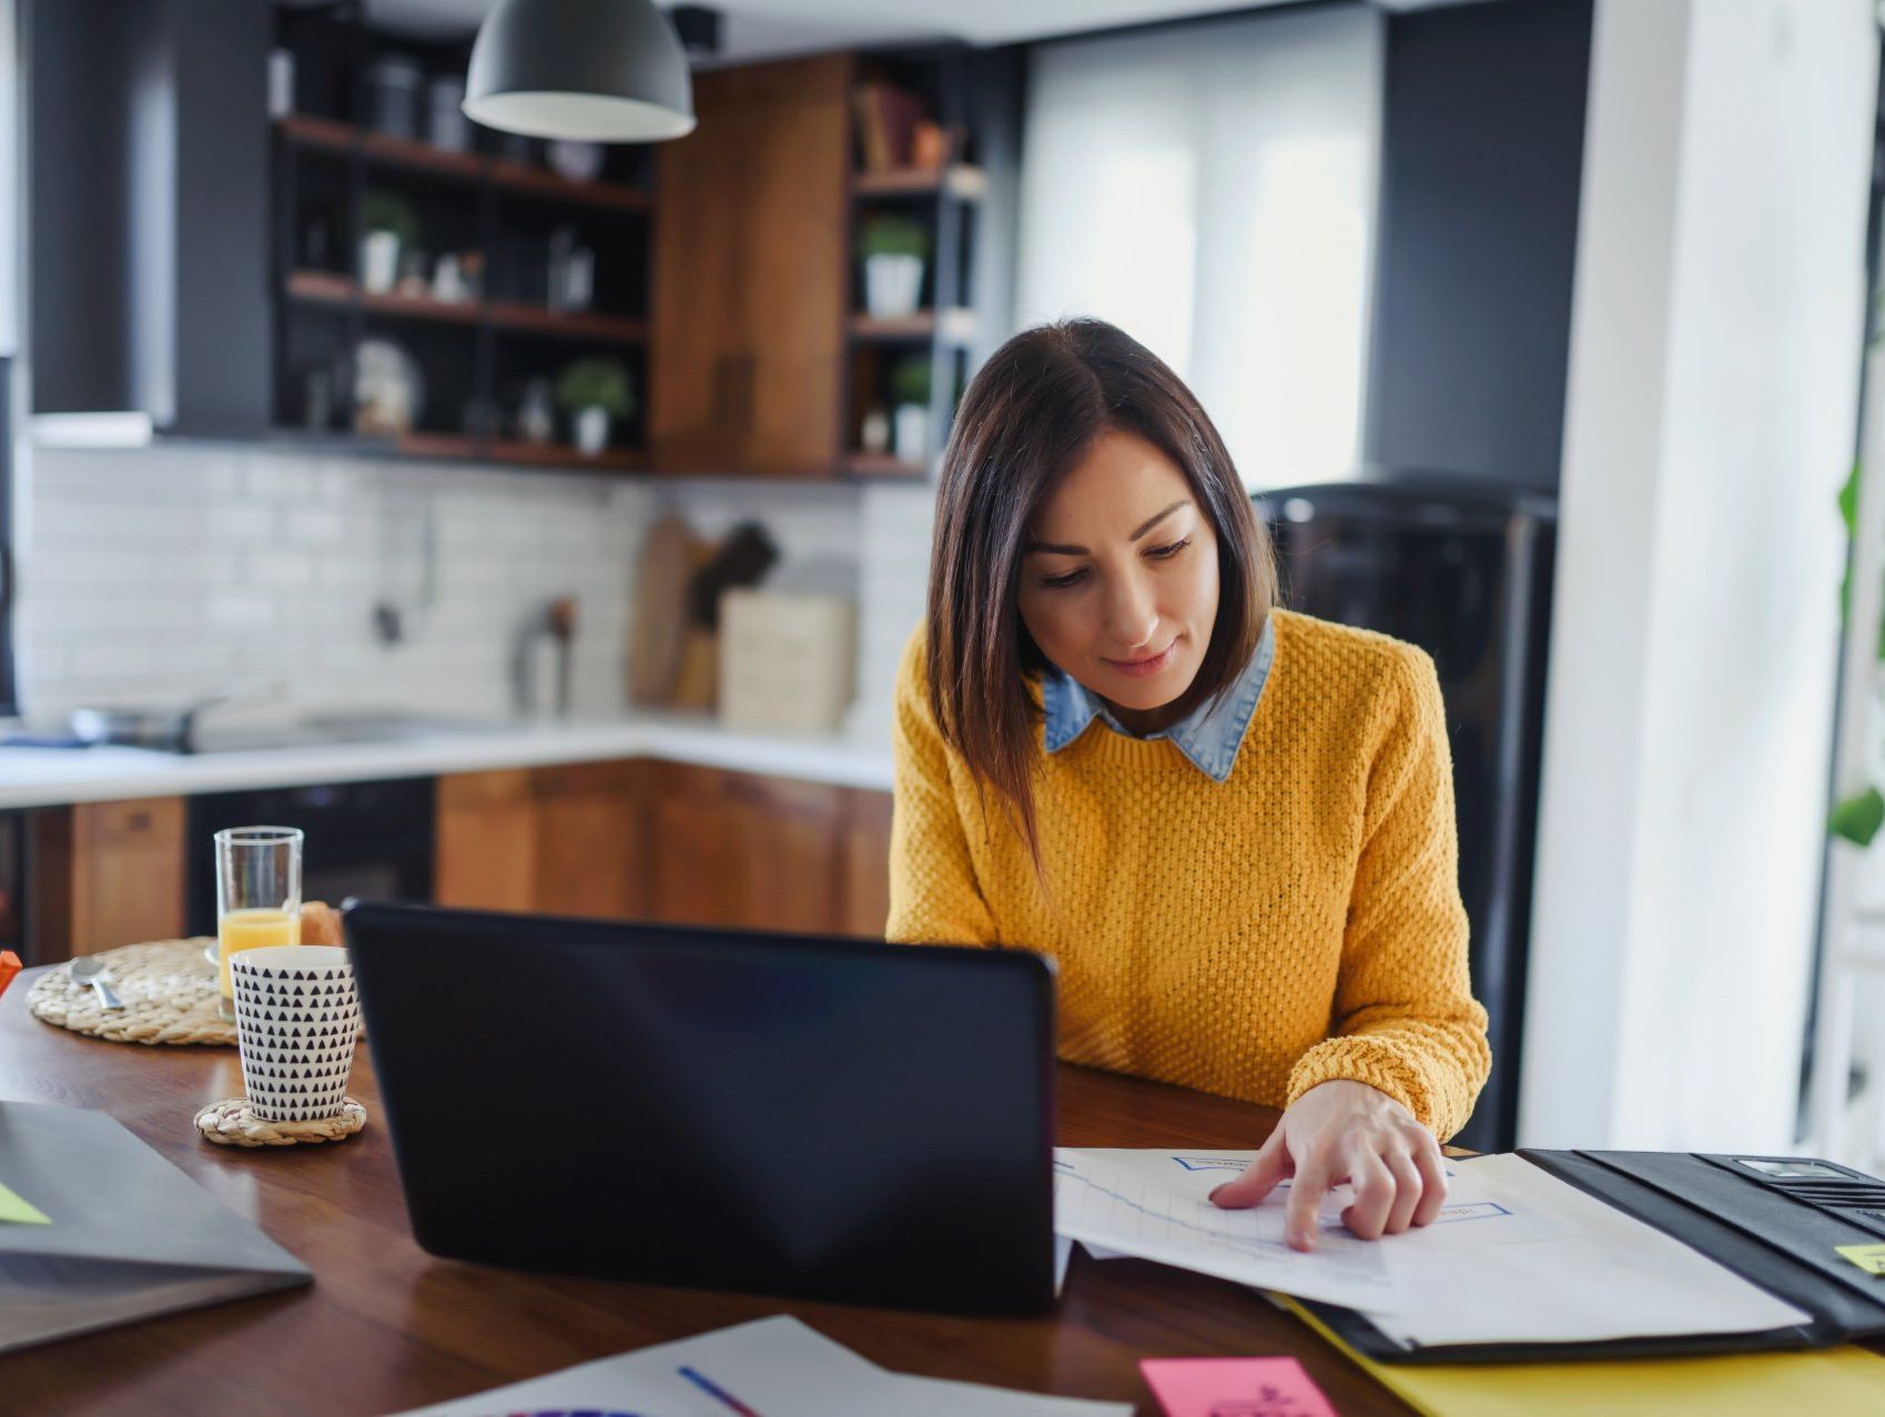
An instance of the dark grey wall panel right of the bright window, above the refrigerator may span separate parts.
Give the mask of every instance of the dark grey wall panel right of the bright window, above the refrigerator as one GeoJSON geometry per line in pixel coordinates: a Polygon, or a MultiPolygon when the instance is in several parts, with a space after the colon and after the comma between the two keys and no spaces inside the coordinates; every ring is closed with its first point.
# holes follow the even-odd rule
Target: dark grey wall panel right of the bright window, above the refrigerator
{"type": "Polygon", "coordinates": [[[1387,24],[1367,460],[1557,490],[1591,0],[1387,24]]]}

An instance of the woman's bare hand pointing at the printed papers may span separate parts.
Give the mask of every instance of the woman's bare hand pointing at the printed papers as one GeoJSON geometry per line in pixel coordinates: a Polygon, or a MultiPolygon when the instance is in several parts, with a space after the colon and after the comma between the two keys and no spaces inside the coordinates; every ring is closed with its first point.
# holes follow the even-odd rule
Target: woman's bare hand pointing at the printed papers
{"type": "Polygon", "coordinates": [[[1427,1225],[1446,1204],[1440,1144],[1414,1114],[1365,1082],[1318,1083],[1284,1112],[1242,1176],[1210,1193],[1225,1210],[1255,1206],[1289,1180],[1284,1238],[1316,1247],[1316,1215],[1331,1187],[1350,1181],[1355,1200],[1342,1223],[1363,1240],[1427,1225]]]}

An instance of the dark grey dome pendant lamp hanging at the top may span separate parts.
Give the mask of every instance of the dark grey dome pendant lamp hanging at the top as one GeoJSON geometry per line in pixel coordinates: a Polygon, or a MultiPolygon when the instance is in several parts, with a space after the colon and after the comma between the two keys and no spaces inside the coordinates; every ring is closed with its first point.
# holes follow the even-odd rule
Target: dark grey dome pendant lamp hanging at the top
{"type": "Polygon", "coordinates": [[[471,45],[464,109],[528,138],[658,143],[694,132],[694,85],[650,0],[500,0],[471,45]]]}

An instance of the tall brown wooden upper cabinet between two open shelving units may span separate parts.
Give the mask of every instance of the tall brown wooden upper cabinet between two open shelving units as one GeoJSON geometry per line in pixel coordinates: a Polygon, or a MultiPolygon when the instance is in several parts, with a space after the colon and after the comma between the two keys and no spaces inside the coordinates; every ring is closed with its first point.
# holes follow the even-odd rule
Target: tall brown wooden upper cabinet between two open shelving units
{"type": "Polygon", "coordinates": [[[844,55],[699,73],[699,128],[660,149],[658,471],[839,460],[850,75],[844,55]]]}

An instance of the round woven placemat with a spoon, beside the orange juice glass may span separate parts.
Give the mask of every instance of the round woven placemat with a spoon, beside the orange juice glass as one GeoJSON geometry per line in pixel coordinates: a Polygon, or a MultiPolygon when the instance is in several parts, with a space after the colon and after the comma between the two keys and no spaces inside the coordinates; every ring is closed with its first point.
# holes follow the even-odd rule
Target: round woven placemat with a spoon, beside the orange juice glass
{"type": "Polygon", "coordinates": [[[236,1046],[236,1025],[217,1018],[217,967],[204,957],[205,937],[151,940],[104,950],[106,984],[124,1008],[100,1008],[98,993],[60,965],[34,980],[26,1008],[36,1019],[117,1044],[236,1046]]]}

